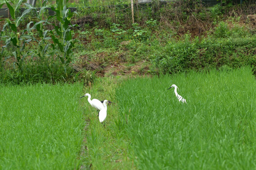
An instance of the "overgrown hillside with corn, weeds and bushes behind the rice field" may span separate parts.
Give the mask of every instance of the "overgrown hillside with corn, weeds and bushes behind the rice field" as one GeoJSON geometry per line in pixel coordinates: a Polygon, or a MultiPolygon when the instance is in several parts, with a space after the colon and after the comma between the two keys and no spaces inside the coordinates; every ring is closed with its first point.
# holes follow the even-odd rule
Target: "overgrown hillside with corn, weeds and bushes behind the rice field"
{"type": "MultiPolygon", "coordinates": [[[[9,8],[18,10],[19,2],[9,8]]],[[[134,24],[125,4],[78,8],[65,17],[60,2],[53,8],[59,11],[55,17],[46,8],[35,14],[36,8],[26,5],[22,19],[15,11],[5,20],[1,82],[88,84],[96,76],[256,66],[255,4],[250,1],[209,8],[197,1],[135,4],[134,24]]]]}

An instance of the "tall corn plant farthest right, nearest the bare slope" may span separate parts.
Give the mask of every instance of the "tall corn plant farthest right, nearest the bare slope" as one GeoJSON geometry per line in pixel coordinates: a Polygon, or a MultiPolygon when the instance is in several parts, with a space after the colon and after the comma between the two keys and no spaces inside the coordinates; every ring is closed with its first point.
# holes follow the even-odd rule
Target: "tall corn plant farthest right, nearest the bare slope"
{"type": "Polygon", "coordinates": [[[56,12],[56,19],[59,21],[58,25],[55,25],[55,32],[50,31],[52,40],[54,42],[53,48],[60,49],[61,54],[57,56],[61,59],[62,63],[68,65],[71,61],[72,48],[74,47],[75,40],[72,39],[71,28],[73,26],[70,20],[77,12],[71,12],[66,6],[68,0],[56,0],[57,8],[51,7],[56,12]]]}

